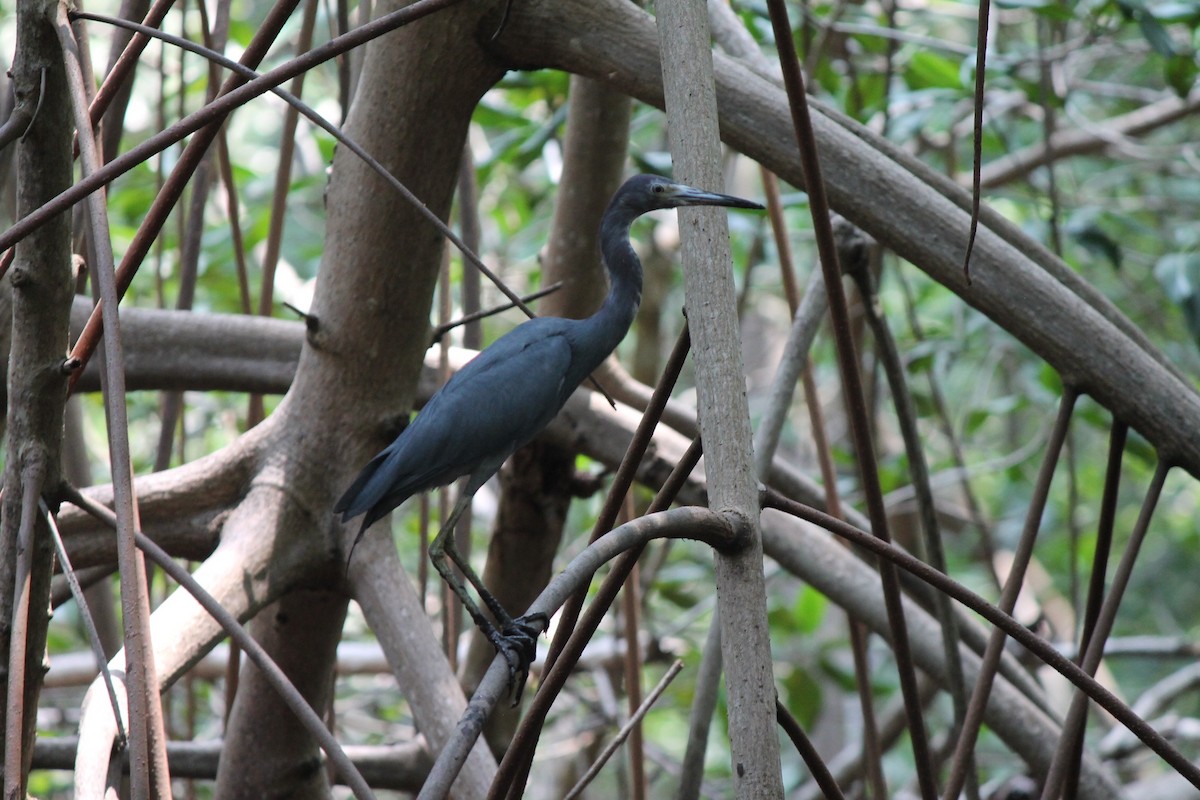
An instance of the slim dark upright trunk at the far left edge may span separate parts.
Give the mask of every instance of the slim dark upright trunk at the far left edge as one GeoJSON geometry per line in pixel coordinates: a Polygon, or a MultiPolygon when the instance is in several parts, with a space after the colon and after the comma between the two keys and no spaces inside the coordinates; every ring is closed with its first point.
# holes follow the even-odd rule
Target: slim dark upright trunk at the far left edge
{"type": "MultiPolygon", "coordinates": [[[[71,184],[71,109],[52,10],[50,4],[38,0],[23,0],[17,8],[13,85],[18,106],[31,114],[36,108],[32,127],[17,146],[18,216],[32,212],[71,184]]],[[[61,367],[74,284],[70,224],[70,215],[61,213],[17,245],[8,276],[13,287],[12,353],[0,522],[0,684],[8,700],[0,710],[0,720],[5,730],[5,788],[16,787],[19,796],[25,794],[32,757],[54,558],[46,523],[37,509],[24,506],[23,495],[26,485],[31,485],[34,498],[46,489],[53,493],[60,480],[66,403],[61,367]],[[26,522],[36,522],[23,531],[24,541],[18,541],[23,513],[26,522]],[[13,616],[17,595],[25,597],[20,619],[13,616]],[[23,656],[11,658],[13,650],[23,656]],[[10,686],[10,680],[18,679],[23,686],[10,686]]]]}

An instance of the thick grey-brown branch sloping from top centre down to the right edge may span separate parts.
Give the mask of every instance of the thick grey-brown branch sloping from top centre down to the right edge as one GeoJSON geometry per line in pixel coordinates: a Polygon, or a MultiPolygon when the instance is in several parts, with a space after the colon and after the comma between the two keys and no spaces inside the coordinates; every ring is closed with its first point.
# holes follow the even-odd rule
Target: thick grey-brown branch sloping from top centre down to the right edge
{"type": "MultiPolygon", "coordinates": [[[[631,4],[515,4],[492,47],[510,64],[587,74],[662,107],[654,23],[631,4]]],[[[803,186],[782,90],[720,53],[714,59],[722,138],[803,186]]],[[[817,103],[812,112],[834,210],[1016,336],[1165,461],[1200,476],[1200,395],[1111,302],[988,209],[968,284],[966,192],[836,112],[817,103]]]]}

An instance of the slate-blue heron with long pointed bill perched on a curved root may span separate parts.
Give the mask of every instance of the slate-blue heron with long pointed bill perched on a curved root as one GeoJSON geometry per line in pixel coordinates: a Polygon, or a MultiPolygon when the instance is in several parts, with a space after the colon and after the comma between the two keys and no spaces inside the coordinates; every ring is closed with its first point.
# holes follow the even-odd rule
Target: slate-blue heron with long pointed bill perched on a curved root
{"type": "Polygon", "coordinates": [[[334,506],[343,522],[364,515],[356,545],[371,523],[413,494],[468,476],[454,510],[430,543],[430,560],[475,625],[504,654],[514,680],[533,658],[538,628],[527,618],[514,620],[487,591],[455,548],[455,523],[479,487],[550,423],[571,392],[629,331],[642,300],[642,264],[629,243],[634,219],[648,211],[683,205],[762,207],[659,175],[630,178],[600,221],[600,251],[611,284],[600,309],[587,319],[530,319],[502,336],[430,398],[412,425],[371,459],[334,506]],[[448,557],[491,609],[499,630],[450,571],[448,557]]]}

